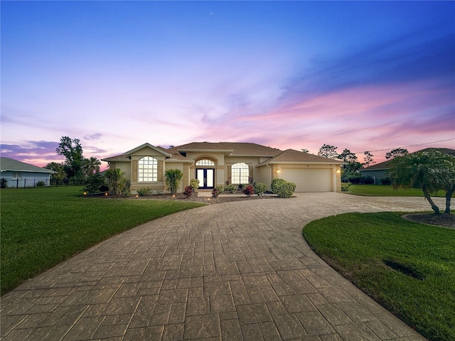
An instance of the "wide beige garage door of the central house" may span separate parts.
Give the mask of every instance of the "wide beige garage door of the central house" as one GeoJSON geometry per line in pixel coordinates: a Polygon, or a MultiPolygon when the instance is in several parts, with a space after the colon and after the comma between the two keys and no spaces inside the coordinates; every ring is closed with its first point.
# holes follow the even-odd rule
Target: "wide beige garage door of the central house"
{"type": "Polygon", "coordinates": [[[282,168],[284,180],[296,184],[296,192],[331,192],[330,168],[282,168]]]}

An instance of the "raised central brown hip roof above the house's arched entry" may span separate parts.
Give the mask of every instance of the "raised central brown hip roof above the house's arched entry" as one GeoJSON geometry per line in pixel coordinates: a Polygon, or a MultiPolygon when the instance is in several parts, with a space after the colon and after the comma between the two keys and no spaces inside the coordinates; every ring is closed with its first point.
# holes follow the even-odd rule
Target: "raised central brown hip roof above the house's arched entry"
{"type": "MultiPolygon", "coordinates": [[[[192,142],[191,144],[183,144],[171,149],[176,149],[179,152],[187,151],[208,151],[208,152],[224,152],[230,156],[277,156],[282,153],[277,148],[261,146],[260,144],[252,144],[247,142],[192,142]]],[[[168,150],[169,151],[169,150],[168,150]]]]}

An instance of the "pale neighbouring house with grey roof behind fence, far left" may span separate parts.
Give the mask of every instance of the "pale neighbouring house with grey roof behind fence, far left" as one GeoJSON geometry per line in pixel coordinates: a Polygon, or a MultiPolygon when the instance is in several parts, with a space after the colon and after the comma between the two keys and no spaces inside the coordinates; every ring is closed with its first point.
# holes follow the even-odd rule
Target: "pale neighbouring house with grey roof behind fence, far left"
{"type": "Polygon", "coordinates": [[[48,186],[53,173],[56,172],[12,158],[0,158],[0,178],[6,179],[8,187],[34,187],[38,181],[44,181],[48,186]]]}

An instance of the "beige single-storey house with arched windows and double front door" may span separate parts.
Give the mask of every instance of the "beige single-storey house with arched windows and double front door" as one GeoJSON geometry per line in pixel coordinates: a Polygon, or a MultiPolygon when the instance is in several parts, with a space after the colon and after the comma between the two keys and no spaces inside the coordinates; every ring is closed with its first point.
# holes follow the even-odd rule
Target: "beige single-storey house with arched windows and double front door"
{"type": "Polygon", "coordinates": [[[166,190],[164,174],[180,169],[183,181],[178,192],[199,180],[199,190],[217,185],[234,185],[283,178],[296,184],[296,192],[340,192],[341,165],[344,163],[310,153],[237,142],[193,142],[162,148],[143,144],[119,156],[105,158],[109,168],[119,168],[131,182],[131,190],[166,190]]]}

